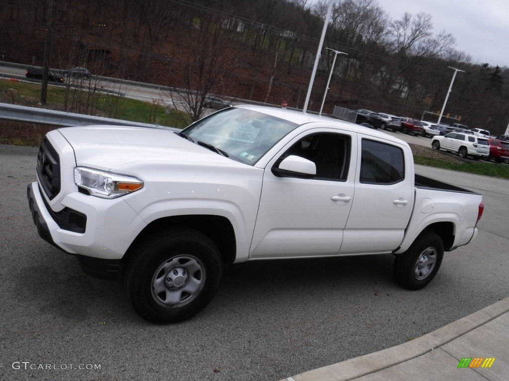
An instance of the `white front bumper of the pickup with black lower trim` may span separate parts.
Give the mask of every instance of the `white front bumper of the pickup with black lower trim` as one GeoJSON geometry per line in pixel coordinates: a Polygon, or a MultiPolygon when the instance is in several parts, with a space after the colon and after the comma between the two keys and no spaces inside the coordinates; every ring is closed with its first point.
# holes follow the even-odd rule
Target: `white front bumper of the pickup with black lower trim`
{"type": "Polygon", "coordinates": [[[65,196],[61,202],[64,209],[86,216],[82,232],[55,218],[37,182],[28,185],[27,198],[41,238],[67,253],[79,255],[82,269],[96,277],[115,277],[125,252],[146,226],[122,198],[106,200],[78,192],[65,196]]]}

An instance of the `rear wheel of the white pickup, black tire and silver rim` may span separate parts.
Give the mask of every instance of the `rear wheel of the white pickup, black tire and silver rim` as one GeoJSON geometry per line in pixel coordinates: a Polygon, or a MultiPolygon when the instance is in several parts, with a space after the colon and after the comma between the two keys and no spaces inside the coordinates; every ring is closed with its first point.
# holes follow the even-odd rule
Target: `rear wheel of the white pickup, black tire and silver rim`
{"type": "Polygon", "coordinates": [[[405,289],[419,290],[433,280],[442,264],[444,246],[436,233],[422,232],[394,259],[394,277],[405,289]]]}

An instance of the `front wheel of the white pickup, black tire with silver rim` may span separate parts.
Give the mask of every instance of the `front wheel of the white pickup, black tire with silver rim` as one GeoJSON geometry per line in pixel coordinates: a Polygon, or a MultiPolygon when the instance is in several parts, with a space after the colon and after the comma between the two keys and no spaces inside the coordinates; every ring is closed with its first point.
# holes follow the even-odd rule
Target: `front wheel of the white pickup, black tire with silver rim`
{"type": "Polygon", "coordinates": [[[163,232],[132,250],[124,286],[134,310],[149,322],[189,319],[209,304],[219,288],[219,250],[200,232],[163,232]]]}

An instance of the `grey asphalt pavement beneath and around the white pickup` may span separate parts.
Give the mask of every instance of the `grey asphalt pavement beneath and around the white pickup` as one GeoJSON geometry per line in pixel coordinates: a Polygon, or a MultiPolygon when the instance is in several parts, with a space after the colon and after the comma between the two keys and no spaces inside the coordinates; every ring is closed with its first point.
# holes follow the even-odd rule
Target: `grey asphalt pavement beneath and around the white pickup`
{"type": "Polygon", "coordinates": [[[509,181],[418,167],[483,193],[486,204],[476,240],[446,253],[427,288],[399,288],[390,255],[247,263],[227,271],[193,319],[150,324],[119,281],[84,275],[38,237],[26,200],[36,152],[0,145],[1,380],[278,380],[406,342],[509,296],[509,181]]]}

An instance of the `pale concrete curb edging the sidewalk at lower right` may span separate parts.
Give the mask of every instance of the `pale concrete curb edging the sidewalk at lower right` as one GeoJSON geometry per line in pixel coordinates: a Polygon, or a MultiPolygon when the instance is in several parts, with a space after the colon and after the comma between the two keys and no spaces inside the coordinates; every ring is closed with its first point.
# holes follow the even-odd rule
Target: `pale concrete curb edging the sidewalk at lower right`
{"type": "Polygon", "coordinates": [[[280,381],[347,381],[422,356],[509,311],[509,297],[445,327],[385,350],[309,370],[280,381]]]}

